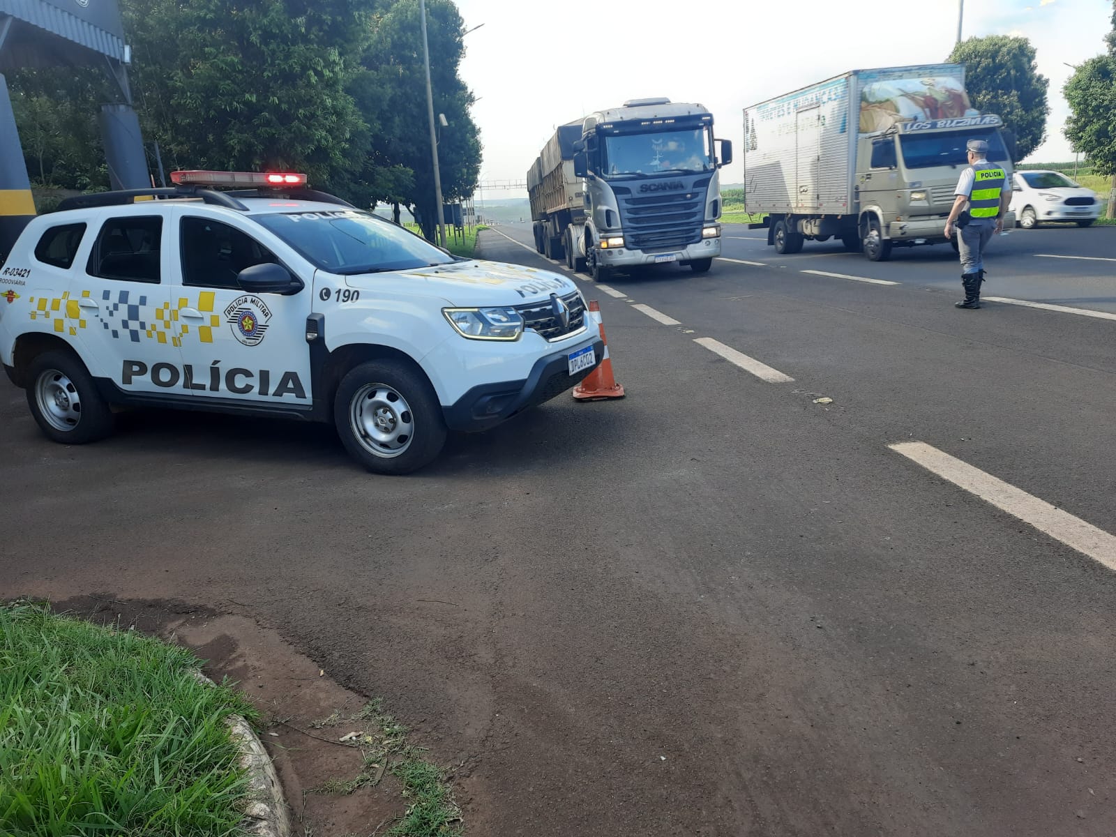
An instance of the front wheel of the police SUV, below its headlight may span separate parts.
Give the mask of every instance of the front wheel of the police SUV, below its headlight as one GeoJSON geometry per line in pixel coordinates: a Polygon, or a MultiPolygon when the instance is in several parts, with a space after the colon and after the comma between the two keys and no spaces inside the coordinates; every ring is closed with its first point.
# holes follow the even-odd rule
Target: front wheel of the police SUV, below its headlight
{"type": "Polygon", "coordinates": [[[349,369],[334,396],[334,424],[345,450],[373,473],[417,471],[445,444],[434,388],[400,360],[368,360],[349,369]]]}

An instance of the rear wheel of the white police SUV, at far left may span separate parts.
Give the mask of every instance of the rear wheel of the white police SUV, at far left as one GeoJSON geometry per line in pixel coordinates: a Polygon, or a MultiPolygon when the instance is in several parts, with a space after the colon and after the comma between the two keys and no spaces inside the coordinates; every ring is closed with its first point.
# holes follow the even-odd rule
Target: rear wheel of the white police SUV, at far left
{"type": "Polygon", "coordinates": [[[108,402],[76,355],[44,352],[28,367],[27,405],[44,435],[61,444],[87,444],[110,435],[108,402]]]}

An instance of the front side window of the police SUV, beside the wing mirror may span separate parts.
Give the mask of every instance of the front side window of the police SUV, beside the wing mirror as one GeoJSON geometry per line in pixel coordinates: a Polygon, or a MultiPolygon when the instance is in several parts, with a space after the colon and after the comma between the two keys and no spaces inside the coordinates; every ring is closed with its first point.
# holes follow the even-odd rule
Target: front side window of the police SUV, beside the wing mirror
{"type": "Polygon", "coordinates": [[[253,264],[279,263],[251,235],[209,218],[182,219],[182,281],[203,288],[240,289],[237,275],[253,264]]]}

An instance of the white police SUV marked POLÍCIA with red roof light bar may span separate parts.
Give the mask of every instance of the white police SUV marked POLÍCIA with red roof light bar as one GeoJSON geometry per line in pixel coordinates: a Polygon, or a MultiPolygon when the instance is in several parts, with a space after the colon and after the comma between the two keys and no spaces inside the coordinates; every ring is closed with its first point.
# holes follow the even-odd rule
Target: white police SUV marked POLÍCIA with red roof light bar
{"type": "Polygon", "coordinates": [[[227,411],[333,421],[407,473],[600,362],[562,276],[454,258],[300,174],[172,179],[64,201],[0,267],[0,360],[57,442],[114,405],[227,411]]]}

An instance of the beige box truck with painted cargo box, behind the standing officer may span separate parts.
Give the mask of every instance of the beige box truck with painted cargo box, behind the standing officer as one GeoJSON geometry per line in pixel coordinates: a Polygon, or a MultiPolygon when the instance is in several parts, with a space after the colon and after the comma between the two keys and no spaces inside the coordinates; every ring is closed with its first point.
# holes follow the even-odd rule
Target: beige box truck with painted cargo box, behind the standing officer
{"type": "MultiPolygon", "coordinates": [[[[872,261],[936,244],[965,146],[980,138],[1011,182],[1003,123],[970,103],[963,64],[852,70],[744,108],[744,206],[778,253],[840,239],[872,261]]],[[[1013,219],[1006,219],[1010,227],[1013,219]]]]}

